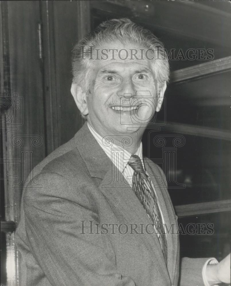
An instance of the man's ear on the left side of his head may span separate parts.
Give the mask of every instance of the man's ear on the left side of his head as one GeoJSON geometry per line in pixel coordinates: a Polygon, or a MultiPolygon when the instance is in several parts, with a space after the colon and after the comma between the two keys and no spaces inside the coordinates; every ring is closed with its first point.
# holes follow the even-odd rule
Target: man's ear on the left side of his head
{"type": "Polygon", "coordinates": [[[87,115],[88,114],[87,95],[85,92],[83,92],[83,89],[81,88],[81,86],[73,83],[71,85],[71,94],[81,114],[87,115]]]}

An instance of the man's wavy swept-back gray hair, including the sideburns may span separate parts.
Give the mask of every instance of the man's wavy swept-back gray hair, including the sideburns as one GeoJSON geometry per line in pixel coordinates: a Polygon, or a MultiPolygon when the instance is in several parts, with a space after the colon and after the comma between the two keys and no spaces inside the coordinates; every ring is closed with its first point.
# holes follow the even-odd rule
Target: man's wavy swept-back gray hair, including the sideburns
{"type": "Polygon", "coordinates": [[[72,73],[73,82],[77,83],[88,92],[87,71],[90,60],[82,58],[82,48],[90,52],[91,46],[98,46],[107,42],[120,41],[121,43],[135,43],[147,49],[154,50],[153,67],[155,70],[155,80],[158,87],[162,87],[164,82],[169,80],[169,63],[165,55],[163,43],[156,36],[140,25],[133,23],[130,19],[112,19],[101,23],[93,33],[81,39],[73,48],[72,73]],[[158,50],[158,52],[157,52],[158,50]],[[158,53],[158,55],[157,55],[158,53]]]}

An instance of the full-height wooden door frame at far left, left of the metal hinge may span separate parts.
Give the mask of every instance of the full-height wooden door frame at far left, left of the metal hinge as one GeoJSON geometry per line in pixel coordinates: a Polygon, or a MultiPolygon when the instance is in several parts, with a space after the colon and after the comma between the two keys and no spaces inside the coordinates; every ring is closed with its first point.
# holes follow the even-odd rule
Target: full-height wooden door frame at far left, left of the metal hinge
{"type": "MultiPolygon", "coordinates": [[[[26,176],[45,156],[42,62],[38,37],[40,9],[37,1],[5,1],[1,3],[1,8],[3,6],[1,24],[4,22],[5,47],[1,63],[7,75],[1,80],[1,103],[5,102],[1,113],[5,220],[17,224],[26,176]]],[[[6,234],[6,243],[7,285],[17,286],[19,263],[14,232],[6,234]]]]}

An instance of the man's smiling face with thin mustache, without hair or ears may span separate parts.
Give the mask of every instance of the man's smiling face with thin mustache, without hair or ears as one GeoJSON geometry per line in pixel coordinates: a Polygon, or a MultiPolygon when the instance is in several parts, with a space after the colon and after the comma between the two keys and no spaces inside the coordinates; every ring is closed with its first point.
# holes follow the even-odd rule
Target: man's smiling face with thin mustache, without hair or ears
{"type": "MultiPolygon", "coordinates": [[[[141,49],[132,44],[105,44],[99,49],[141,49]]],[[[94,57],[95,58],[95,57],[94,57]]],[[[107,60],[92,60],[88,73],[88,122],[101,135],[122,135],[130,127],[144,130],[156,109],[156,87],[151,61],[128,59],[126,51],[107,60]]]]}

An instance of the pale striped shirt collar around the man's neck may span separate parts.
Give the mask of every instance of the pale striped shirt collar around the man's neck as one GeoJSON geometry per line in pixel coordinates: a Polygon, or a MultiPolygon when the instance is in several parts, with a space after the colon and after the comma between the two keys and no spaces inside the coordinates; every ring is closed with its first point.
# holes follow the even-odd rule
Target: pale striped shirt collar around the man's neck
{"type": "MultiPolygon", "coordinates": [[[[100,147],[107,154],[112,163],[116,166],[116,168],[118,168],[121,173],[123,173],[132,154],[123,147],[117,146],[114,143],[108,144],[107,142],[105,142],[105,139],[101,135],[99,135],[88,122],[87,126],[95,140],[99,143],[100,147]]],[[[140,146],[138,147],[135,155],[140,157],[143,164],[142,142],[140,142],[140,146]]]]}

